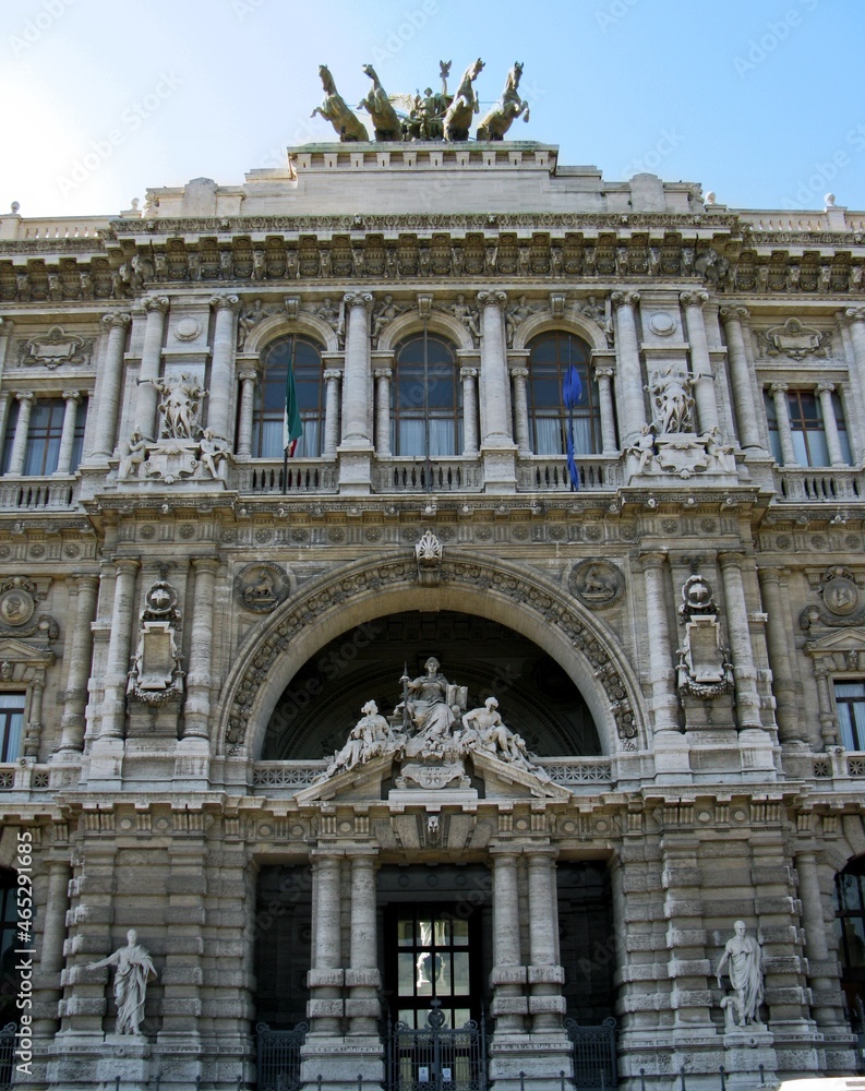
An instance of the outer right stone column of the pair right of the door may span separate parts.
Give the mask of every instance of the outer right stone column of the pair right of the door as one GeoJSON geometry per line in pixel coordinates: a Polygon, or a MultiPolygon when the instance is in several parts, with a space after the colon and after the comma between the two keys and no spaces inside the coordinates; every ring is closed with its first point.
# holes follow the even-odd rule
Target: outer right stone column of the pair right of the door
{"type": "Polygon", "coordinates": [[[533,849],[529,865],[528,979],[529,1012],[533,1033],[562,1030],[565,998],[564,968],[558,961],[558,891],[555,885],[555,849],[533,849]]]}

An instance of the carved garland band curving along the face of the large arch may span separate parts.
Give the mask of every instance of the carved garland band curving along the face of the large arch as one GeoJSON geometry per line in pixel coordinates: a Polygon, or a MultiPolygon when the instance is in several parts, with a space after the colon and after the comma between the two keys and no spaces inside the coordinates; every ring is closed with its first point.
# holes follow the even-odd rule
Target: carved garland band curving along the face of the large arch
{"type": "MultiPolygon", "coordinates": [[[[625,683],[603,645],[573,610],[558,602],[550,592],[527,584],[508,572],[491,572],[470,561],[450,559],[443,560],[441,572],[443,583],[466,584],[482,590],[494,590],[520,606],[530,607],[545,622],[555,625],[564,633],[572,646],[586,657],[603,686],[615,717],[623,750],[636,750],[637,723],[625,683]]],[[[384,562],[375,568],[346,575],[316,591],[288,613],[275,631],[265,637],[237,685],[226,732],[229,753],[237,753],[245,742],[250,714],[259,690],[268,678],[276,659],[288,649],[298,633],[315,624],[325,611],[356,596],[377,591],[394,584],[415,583],[417,579],[417,561],[413,556],[384,562]]]]}

